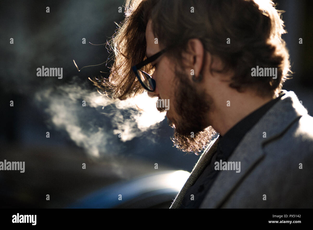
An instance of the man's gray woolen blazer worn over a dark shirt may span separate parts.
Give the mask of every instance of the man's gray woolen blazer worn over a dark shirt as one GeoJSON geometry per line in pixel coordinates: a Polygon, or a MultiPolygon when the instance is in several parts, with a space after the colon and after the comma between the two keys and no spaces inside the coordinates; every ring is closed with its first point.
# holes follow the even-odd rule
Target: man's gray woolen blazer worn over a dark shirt
{"type": "MultiPolygon", "coordinates": [[[[312,208],[313,117],[292,91],[247,132],[228,161],[241,170],[222,170],[200,208],[312,208]],[[266,134],[266,137],[265,137],[266,134]]],[[[170,208],[179,208],[187,189],[216,151],[218,138],[200,156],[170,208]]]]}

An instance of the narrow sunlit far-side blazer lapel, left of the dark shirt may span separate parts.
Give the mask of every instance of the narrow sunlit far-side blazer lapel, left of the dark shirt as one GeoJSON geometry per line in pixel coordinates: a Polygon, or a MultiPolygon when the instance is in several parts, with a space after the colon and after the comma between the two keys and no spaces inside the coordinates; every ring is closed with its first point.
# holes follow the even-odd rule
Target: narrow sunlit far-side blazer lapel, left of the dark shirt
{"type": "Polygon", "coordinates": [[[214,155],[214,153],[217,150],[217,144],[218,144],[218,137],[211,141],[211,143],[208,145],[207,149],[203,151],[203,154],[200,156],[197,164],[193,168],[190,176],[188,177],[185,185],[182,187],[181,191],[176,196],[174,202],[172,203],[170,208],[179,208],[182,204],[182,200],[185,196],[185,193],[187,189],[194,184],[195,181],[197,181],[198,177],[201,175],[202,171],[205,169],[205,167],[208,165],[208,162],[214,155]]]}

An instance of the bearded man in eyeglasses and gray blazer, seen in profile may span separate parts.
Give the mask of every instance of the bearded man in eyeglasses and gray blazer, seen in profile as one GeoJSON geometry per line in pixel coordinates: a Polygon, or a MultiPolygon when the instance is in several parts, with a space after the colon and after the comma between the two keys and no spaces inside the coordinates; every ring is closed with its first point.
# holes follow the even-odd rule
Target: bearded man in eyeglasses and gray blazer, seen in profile
{"type": "Polygon", "coordinates": [[[110,81],[99,87],[121,100],[145,89],[167,100],[175,146],[205,148],[171,208],[312,207],[313,118],[282,90],[291,71],[273,3],[138,0],[126,7],[111,40],[110,81]]]}

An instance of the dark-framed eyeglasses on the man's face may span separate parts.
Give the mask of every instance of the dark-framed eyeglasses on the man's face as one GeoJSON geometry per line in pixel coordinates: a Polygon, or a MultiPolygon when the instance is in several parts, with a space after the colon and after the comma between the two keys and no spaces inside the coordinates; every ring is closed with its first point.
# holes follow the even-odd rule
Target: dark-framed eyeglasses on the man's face
{"type": "Polygon", "coordinates": [[[146,90],[148,90],[150,92],[154,92],[154,90],[156,89],[156,81],[154,79],[152,79],[149,74],[147,74],[146,72],[141,70],[141,68],[143,66],[153,62],[154,60],[156,60],[161,54],[163,54],[167,50],[168,50],[168,48],[162,49],[160,52],[152,55],[151,57],[147,58],[143,62],[141,62],[137,65],[134,65],[132,67],[134,73],[136,74],[136,76],[137,76],[139,82],[141,83],[141,85],[143,86],[143,88],[145,88],[146,90]]]}

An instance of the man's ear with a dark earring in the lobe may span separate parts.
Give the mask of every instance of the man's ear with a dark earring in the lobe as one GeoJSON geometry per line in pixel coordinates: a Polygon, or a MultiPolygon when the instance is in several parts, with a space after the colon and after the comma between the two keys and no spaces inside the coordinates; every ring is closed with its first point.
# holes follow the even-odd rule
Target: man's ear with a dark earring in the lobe
{"type": "Polygon", "coordinates": [[[182,56],[185,70],[190,75],[190,79],[192,79],[192,75],[197,78],[205,61],[205,49],[202,42],[198,38],[189,39],[187,52],[182,53],[182,56]]]}

